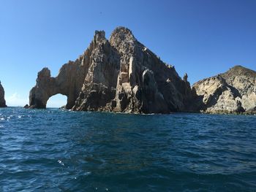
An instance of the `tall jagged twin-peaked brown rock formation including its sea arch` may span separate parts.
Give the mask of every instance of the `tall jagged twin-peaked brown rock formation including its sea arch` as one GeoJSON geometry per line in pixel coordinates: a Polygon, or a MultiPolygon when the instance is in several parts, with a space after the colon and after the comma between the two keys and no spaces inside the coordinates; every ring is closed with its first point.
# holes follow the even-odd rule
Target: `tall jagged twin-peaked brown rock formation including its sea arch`
{"type": "Polygon", "coordinates": [[[45,108],[57,93],[67,96],[67,109],[132,113],[184,112],[195,98],[187,74],[182,80],[124,27],[109,40],[96,31],[83,55],[64,64],[57,77],[42,69],[29,105],[45,108]]]}

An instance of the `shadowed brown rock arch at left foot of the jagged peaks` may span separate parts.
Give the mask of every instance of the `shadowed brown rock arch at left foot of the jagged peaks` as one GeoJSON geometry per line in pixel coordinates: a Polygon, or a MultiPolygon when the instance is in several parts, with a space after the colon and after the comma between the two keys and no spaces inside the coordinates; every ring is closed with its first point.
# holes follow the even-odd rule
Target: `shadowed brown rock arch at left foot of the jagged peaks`
{"type": "Polygon", "coordinates": [[[37,85],[29,93],[31,108],[45,109],[48,99],[58,93],[67,96],[67,109],[71,109],[78,98],[83,85],[84,70],[75,62],[69,61],[61,67],[57,77],[50,77],[48,68],[42,69],[37,74],[37,85]]]}

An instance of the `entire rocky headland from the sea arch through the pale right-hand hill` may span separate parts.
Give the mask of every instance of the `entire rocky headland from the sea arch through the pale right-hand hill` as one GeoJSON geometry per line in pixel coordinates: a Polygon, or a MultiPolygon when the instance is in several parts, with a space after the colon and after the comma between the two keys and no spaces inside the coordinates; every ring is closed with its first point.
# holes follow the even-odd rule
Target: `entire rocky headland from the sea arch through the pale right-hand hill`
{"type": "Polygon", "coordinates": [[[26,107],[44,109],[57,93],[75,111],[256,114],[256,72],[234,66],[191,87],[187,74],[179,77],[124,27],[110,39],[95,31],[86,51],[64,64],[57,77],[42,69],[26,107]]]}

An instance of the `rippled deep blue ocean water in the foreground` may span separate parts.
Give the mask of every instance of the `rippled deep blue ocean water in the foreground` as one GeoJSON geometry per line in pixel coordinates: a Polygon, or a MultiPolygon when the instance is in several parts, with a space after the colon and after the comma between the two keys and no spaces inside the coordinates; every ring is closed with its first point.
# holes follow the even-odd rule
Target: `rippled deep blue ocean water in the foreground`
{"type": "Polygon", "coordinates": [[[0,191],[256,191],[256,116],[0,109],[0,191]]]}

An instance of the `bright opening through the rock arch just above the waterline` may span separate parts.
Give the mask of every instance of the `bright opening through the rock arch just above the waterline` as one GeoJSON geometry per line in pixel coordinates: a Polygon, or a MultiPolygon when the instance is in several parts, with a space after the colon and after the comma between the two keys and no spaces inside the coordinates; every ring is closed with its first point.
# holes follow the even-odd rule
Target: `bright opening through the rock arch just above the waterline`
{"type": "Polygon", "coordinates": [[[66,107],[67,105],[67,96],[58,93],[56,95],[50,96],[46,103],[46,108],[60,108],[66,107]]]}

